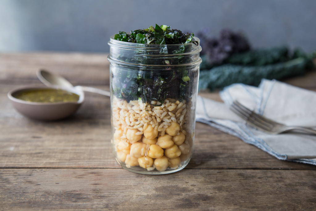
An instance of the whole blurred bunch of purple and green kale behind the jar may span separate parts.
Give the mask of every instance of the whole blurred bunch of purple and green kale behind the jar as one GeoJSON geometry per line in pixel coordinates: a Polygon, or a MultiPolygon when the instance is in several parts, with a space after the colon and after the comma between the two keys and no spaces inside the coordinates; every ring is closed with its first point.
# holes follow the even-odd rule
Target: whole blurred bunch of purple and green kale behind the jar
{"type": "Polygon", "coordinates": [[[205,29],[197,33],[202,46],[199,90],[213,91],[234,83],[257,86],[262,78],[282,79],[315,69],[315,52],[291,51],[285,46],[251,50],[241,33],[223,29],[218,38],[208,34],[205,29]]]}

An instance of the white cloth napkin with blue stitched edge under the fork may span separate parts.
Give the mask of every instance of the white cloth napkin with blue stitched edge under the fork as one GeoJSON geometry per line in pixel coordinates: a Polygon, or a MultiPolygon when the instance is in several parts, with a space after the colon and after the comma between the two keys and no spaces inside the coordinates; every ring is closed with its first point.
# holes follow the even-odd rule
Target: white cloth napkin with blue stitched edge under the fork
{"type": "Polygon", "coordinates": [[[291,126],[316,127],[316,93],[276,80],[263,79],[259,87],[232,84],[220,92],[217,102],[198,96],[196,121],[239,137],[281,160],[316,165],[316,135],[270,135],[246,124],[229,105],[241,104],[264,117],[291,126]]]}

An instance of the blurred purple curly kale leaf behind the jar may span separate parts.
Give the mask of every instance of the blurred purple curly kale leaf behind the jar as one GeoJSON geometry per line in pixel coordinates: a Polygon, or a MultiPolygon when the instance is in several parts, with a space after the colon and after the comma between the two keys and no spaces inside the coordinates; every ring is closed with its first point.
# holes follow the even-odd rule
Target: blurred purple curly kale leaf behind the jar
{"type": "Polygon", "coordinates": [[[201,40],[201,55],[205,54],[208,63],[220,64],[234,53],[250,50],[250,44],[241,32],[233,32],[224,28],[219,33],[218,38],[208,37],[207,29],[197,33],[201,40]]]}

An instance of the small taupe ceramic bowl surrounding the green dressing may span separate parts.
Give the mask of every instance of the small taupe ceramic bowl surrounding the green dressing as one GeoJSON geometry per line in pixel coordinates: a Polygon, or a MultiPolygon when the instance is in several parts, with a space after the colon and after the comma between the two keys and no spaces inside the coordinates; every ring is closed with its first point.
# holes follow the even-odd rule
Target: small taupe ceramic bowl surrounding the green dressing
{"type": "Polygon", "coordinates": [[[11,90],[8,97],[12,102],[13,107],[22,115],[28,118],[40,121],[54,121],[64,119],[72,115],[81,106],[84,101],[84,93],[80,90],[71,88],[58,87],[25,87],[11,90]],[[20,100],[14,96],[22,91],[27,90],[47,90],[47,89],[62,89],[79,95],[77,102],[28,102],[20,100]]]}

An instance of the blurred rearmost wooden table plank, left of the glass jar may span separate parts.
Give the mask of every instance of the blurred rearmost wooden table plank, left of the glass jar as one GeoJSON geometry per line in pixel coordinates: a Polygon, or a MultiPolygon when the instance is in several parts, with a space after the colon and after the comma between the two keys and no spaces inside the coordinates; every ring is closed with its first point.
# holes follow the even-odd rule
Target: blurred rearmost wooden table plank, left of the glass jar
{"type": "Polygon", "coordinates": [[[92,53],[0,53],[0,83],[37,82],[36,71],[44,68],[74,85],[109,84],[108,54],[92,53]]]}

